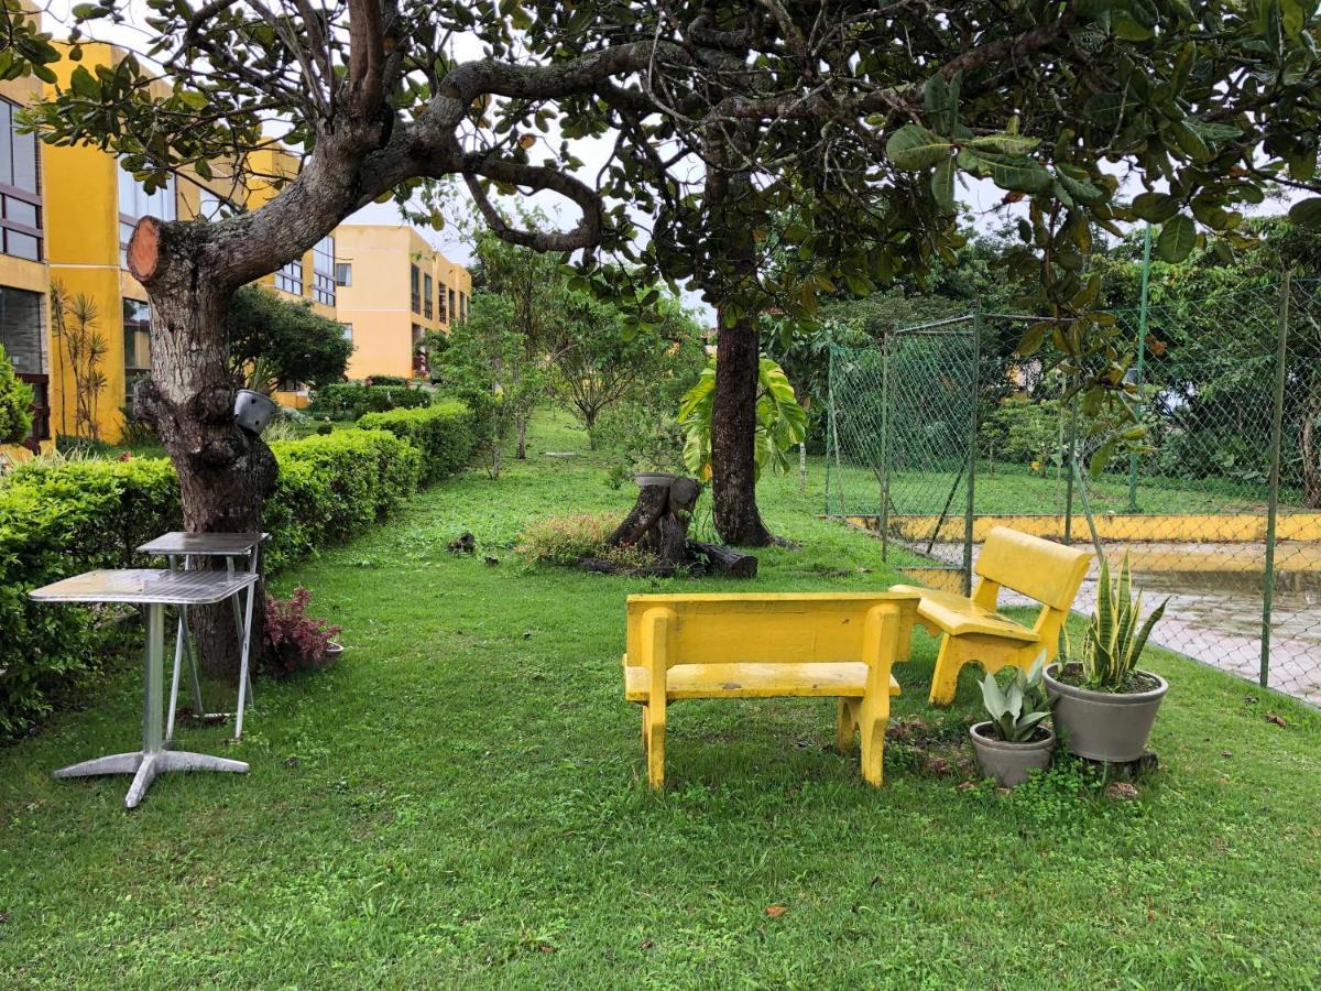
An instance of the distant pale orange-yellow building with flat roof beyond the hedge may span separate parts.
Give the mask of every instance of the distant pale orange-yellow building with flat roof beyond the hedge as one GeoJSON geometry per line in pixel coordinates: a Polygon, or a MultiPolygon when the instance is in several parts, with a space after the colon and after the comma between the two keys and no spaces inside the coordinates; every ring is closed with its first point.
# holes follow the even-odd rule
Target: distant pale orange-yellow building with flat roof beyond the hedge
{"type": "Polygon", "coordinates": [[[336,229],[338,320],[353,341],[350,378],[420,375],[421,337],[468,317],[473,280],[407,225],[336,229]]]}

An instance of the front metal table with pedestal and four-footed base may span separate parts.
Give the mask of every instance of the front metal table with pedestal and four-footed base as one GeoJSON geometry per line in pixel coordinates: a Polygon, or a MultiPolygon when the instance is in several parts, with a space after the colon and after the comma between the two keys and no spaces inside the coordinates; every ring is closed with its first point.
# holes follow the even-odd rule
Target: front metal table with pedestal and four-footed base
{"type": "Polygon", "coordinates": [[[133,784],[124,797],[124,807],[133,809],[143,801],[157,774],[168,770],[227,770],[246,773],[243,761],[166,749],[161,725],[162,663],[165,655],[165,606],[214,605],[256,584],[252,572],[172,571],[168,568],[129,568],[122,571],[89,571],[85,575],[55,581],[29,595],[38,603],[123,603],[143,608],[147,626],[147,650],[143,663],[143,749],[115,753],[55,772],[57,778],[81,778],[94,774],[132,774],[133,784]]]}

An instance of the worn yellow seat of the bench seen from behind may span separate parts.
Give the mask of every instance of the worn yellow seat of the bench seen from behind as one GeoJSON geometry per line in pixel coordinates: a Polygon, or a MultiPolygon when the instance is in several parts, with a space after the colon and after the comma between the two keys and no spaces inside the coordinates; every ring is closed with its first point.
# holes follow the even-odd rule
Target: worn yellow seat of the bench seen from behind
{"type": "MultiPolygon", "coordinates": [[[[625,698],[646,702],[650,673],[624,659],[625,698]]],[[[666,675],[667,699],[863,698],[867,665],[860,661],[806,665],[675,665],[666,675]]],[[[900,686],[890,675],[890,695],[900,686]]]]}

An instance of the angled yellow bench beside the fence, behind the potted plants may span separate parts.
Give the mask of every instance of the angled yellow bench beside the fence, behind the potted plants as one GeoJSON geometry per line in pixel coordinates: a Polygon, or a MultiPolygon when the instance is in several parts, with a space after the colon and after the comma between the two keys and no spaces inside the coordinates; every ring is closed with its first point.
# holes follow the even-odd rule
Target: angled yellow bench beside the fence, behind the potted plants
{"type": "Polygon", "coordinates": [[[959,670],[979,662],[987,671],[1007,665],[1022,670],[1045,653],[1046,663],[1059,651],[1059,630],[1087,576],[1092,555],[1077,547],[995,527],[987,534],[972,571],[978,584],[972,597],[915,585],[894,585],[893,592],[922,596],[917,621],[933,636],[943,634],[935,659],[930,702],[948,706],[959,670]],[[1000,589],[1008,588],[1041,603],[1029,628],[996,612],[1000,589]]]}

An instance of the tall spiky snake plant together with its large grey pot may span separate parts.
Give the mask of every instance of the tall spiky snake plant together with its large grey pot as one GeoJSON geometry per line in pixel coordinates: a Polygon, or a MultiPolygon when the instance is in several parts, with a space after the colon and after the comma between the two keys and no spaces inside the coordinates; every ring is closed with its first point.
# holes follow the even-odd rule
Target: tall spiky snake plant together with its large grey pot
{"type": "Polygon", "coordinates": [[[1169,690],[1159,674],[1137,667],[1169,600],[1141,621],[1143,596],[1139,592],[1133,597],[1132,584],[1127,554],[1116,580],[1102,558],[1096,612],[1087,624],[1082,649],[1075,653],[1066,633],[1061,661],[1046,669],[1055,728],[1071,753],[1089,760],[1122,764],[1141,757],[1169,690]]]}

